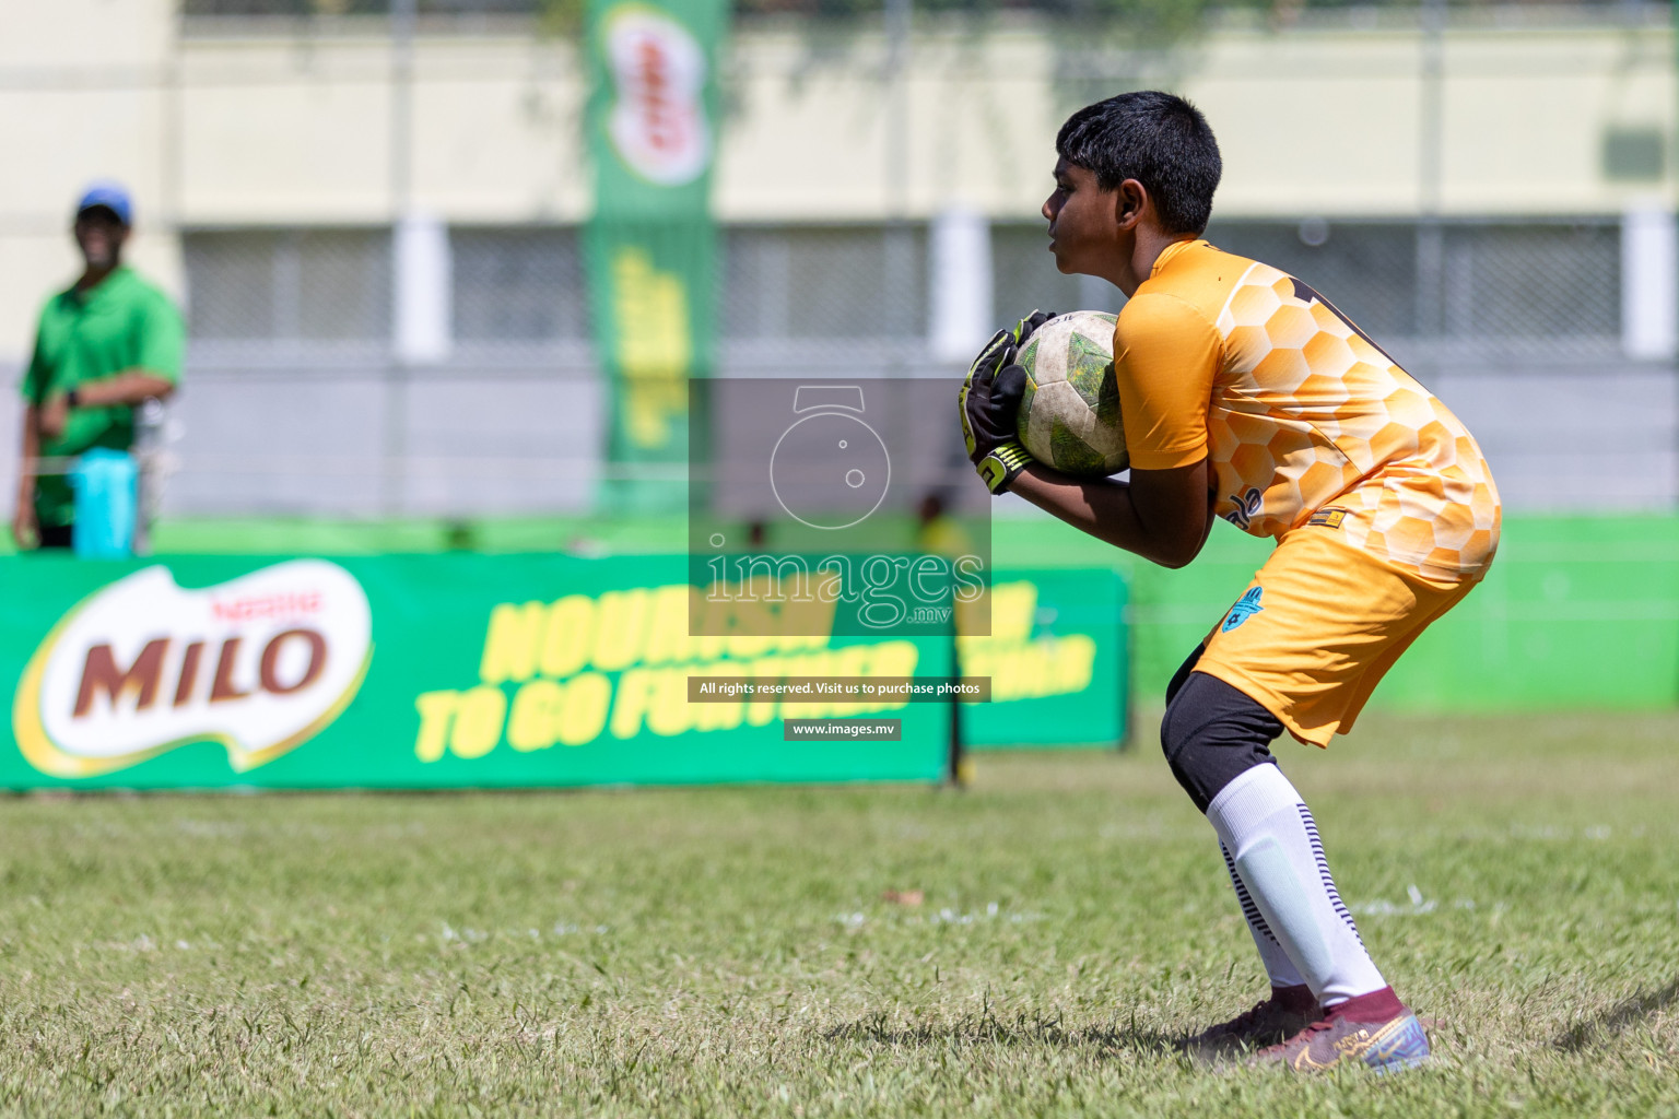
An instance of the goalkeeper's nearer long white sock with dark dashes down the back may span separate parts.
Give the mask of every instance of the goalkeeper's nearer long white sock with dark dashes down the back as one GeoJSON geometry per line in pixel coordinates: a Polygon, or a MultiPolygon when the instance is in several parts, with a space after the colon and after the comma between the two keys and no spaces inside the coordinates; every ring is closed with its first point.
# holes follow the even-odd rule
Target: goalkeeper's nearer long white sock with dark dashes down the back
{"type": "Polygon", "coordinates": [[[1259,916],[1321,1005],[1387,986],[1335,891],[1318,825],[1283,770],[1271,763],[1246,770],[1212,799],[1207,820],[1259,916]]]}

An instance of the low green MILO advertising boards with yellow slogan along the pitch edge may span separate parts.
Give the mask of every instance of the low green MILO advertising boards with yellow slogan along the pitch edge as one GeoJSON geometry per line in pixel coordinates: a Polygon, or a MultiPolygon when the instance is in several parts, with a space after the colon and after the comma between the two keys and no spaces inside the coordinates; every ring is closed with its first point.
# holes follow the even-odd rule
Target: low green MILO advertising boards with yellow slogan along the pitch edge
{"type": "MultiPolygon", "coordinates": [[[[751,619],[695,638],[683,574],[682,557],[5,557],[0,787],[945,778],[949,636],[836,636],[818,602],[784,627],[801,636],[751,619]],[[828,683],[851,679],[927,695],[828,683]],[[890,735],[794,736],[836,718],[890,735]]],[[[994,700],[964,705],[969,742],[1120,736],[1115,584],[999,575],[1004,627],[962,639],[964,678],[989,674],[994,700]]]]}

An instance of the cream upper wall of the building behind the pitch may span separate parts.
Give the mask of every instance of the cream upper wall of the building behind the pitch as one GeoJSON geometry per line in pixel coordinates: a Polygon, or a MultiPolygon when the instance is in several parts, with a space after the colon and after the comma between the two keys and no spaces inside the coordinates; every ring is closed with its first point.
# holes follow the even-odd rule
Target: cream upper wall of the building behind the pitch
{"type": "MultiPolygon", "coordinates": [[[[225,27],[225,25],[223,25],[225,27]]],[[[393,218],[393,65],[378,20],[319,34],[181,37],[170,0],[7,5],[0,35],[0,359],[74,265],[77,188],[128,181],[134,258],[180,287],[178,225],[393,218]]],[[[717,211],[729,221],[927,218],[950,205],[1033,220],[1076,96],[1066,44],[1031,23],[928,25],[887,81],[880,35],[747,27],[724,67],[717,211]],[[1059,44],[1059,45],[1058,45],[1059,44]],[[907,112],[900,116],[900,107],[907,112]],[[902,141],[893,122],[902,121],[902,141]],[[895,146],[902,144],[902,146],[895,146]],[[907,151],[898,166],[895,151],[907,151]]],[[[1085,59],[1088,62],[1088,59],[1085,59]]],[[[1222,216],[1409,215],[1419,206],[1415,27],[1224,27],[1170,55],[1115,57],[1090,89],[1175,87],[1226,154],[1222,216]]],[[[1452,29],[1444,50],[1447,213],[1619,213],[1661,183],[1612,183],[1603,129],[1674,133],[1666,27],[1452,29]]],[[[415,205],[450,223],[579,221],[584,75],[564,42],[421,37],[415,205]]]]}

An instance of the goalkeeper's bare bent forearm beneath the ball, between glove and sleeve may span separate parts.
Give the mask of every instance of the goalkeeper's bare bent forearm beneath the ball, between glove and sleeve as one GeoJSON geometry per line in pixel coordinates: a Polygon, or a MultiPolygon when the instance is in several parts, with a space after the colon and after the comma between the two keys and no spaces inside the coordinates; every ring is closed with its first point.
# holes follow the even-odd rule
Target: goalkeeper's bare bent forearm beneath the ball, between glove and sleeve
{"type": "Polygon", "coordinates": [[[1132,470],[1128,483],[1071,478],[1033,463],[1009,492],[1162,567],[1184,567],[1195,559],[1212,528],[1212,475],[1206,458],[1169,470],[1132,470]]]}

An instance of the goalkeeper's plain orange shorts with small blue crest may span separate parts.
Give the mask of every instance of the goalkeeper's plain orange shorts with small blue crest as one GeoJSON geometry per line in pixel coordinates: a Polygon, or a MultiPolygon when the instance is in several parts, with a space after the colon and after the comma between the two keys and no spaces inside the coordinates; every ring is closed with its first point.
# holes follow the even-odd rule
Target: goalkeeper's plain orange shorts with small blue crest
{"type": "Polygon", "coordinates": [[[1424,579],[1333,530],[1296,528],[1207,634],[1195,671],[1256,700],[1295,738],[1326,747],[1352,730],[1400,653],[1476,582],[1424,579]]]}

